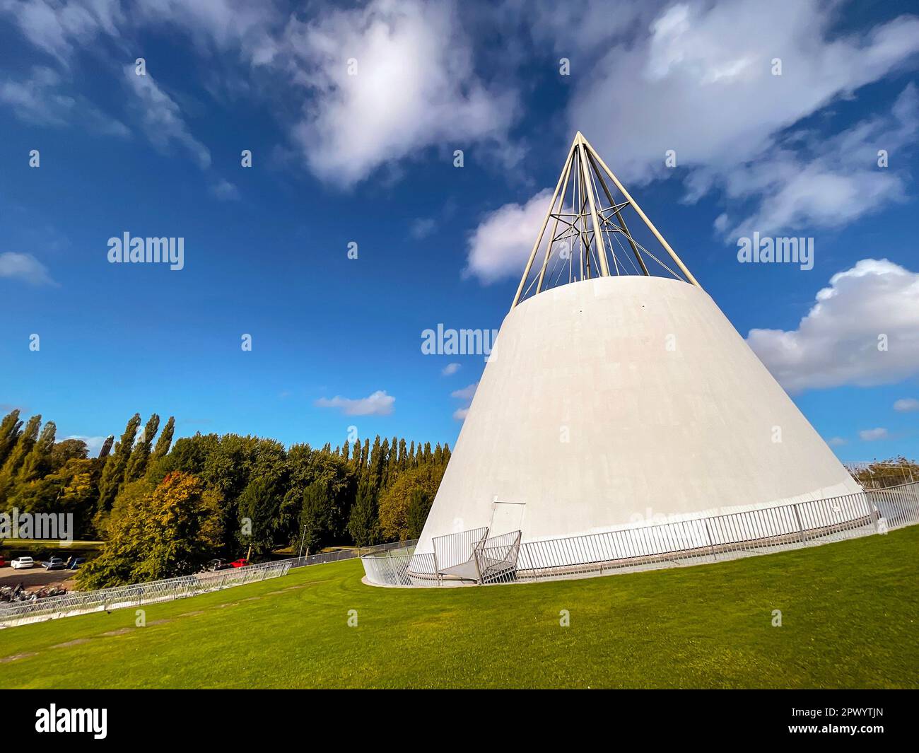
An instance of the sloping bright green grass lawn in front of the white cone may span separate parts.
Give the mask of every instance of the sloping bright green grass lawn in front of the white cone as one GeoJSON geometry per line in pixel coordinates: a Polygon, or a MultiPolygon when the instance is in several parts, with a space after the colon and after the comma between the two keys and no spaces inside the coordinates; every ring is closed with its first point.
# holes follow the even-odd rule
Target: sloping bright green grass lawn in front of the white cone
{"type": "Polygon", "coordinates": [[[6,688],[917,687],[917,550],[913,526],[720,565],[417,590],[365,586],[357,561],[314,565],[148,606],[142,628],[117,610],[0,631],[0,677],[6,688]]]}

